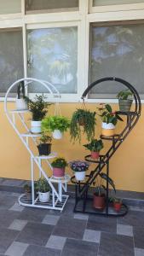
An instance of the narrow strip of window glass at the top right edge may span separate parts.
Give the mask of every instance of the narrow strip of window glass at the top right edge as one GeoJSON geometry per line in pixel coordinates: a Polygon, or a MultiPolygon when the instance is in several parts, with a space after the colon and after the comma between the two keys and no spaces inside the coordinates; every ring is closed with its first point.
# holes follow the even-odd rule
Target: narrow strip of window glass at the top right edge
{"type": "Polygon", "coordinates": [[[143,0],[93,0],[93,6],[128,4],[128,3],[143,3],[143,0]]]}

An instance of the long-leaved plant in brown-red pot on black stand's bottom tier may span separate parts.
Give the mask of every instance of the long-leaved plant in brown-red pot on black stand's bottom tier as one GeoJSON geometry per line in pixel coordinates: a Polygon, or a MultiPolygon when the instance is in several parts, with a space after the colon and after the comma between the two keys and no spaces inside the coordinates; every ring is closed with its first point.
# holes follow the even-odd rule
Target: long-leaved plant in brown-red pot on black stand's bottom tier
{"type": "Polygon", "coordinates": [[[116,193],[115,185],[112,181],[111,177],[108,177],[106,173],[101,172],[99,176],[96,178],[94,184],[95,186],[95,193],[93,197],[93,207],[95,209],[103,210],[106,206],[106,186],[104,185],[104,181],[108,181],[108,183],[112,186],[116,193]]]}

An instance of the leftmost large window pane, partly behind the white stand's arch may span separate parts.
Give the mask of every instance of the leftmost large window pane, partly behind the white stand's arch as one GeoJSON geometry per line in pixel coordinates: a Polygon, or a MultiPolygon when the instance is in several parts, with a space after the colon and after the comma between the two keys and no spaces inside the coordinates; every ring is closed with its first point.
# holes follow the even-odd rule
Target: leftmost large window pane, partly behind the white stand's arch
{"type": "Polygon", "coordinates": [[[9,85],[24,76],[21,30],[0,30],[0,67],[0,92],[5,93],[9,85]]]}

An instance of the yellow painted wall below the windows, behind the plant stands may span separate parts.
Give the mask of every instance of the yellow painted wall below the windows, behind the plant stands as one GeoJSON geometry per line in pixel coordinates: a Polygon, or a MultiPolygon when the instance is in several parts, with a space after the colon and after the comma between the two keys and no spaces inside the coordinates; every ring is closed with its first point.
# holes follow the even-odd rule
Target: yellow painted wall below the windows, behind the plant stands
{"type": "MultiPolygon", "coordinates": [[[[78,108],[78,104],[60,104],[61,113],[67,117],[72,116],[72,112],[78,108]]],[[[9,103],[10,108],[14,108],[14,103],[9,103]]],[[[89,104],[89,109],[95,110],[95,104],[89,104]]],[[[113,105],[113,109],[117,108],[113,105]]],[[[12,177],[20,179],[30,179],[30,156],[25,146],[20,142],[20,138],[14,132],[12,126],[3,111],[3,103],[0,103],[0,177],[12,177]]],[[[52,111],[52,110],[51,110],[52,111]]],[[[118,148],[110,161],[110,176],[115,182],[116,189],[132,190],[144,192],[144,116],[131,131],[129,137],[118,148]]],[[[28,120],[29,118],[26,117],[28,120]]],[[[98,119],[100,121],[100,119],[98,119]]],[[[98,121],[97,121],[98,122],[98,121]]],[[[118,123],[118,131],[123,124],[118,123]]],[[[96,136],[100,135],[101,126],[96,126],[96,136]]],[[[83,139],[82,145],[86,143],[83,139]]],[[[53,141],[53,151],[57,151],[60,156],[65,156],[66,160],[84,159],[89,151],[76,143],[70,143],[68,133],[60,141],[53,141]]],[[[108,143],[105,143],[104,152],[107,150],[108,143]]],[[[92,168],[92,166],[91,166],[92,168]]],[[[68,171],[68,170],[67,170],[68,171]]],[[[70,170],[68,171],[69,173],[70,170]]]]}

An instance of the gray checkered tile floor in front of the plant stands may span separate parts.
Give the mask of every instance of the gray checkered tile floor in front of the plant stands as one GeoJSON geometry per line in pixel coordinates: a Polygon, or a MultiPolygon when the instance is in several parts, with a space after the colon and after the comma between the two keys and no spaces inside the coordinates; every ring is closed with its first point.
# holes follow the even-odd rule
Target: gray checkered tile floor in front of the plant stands
{"type": "Polygon", "coordinates": [[[144,256],[144,211],[124,218],[20,207],[19,194],[0,192],[0,256],[144,256]]]}

